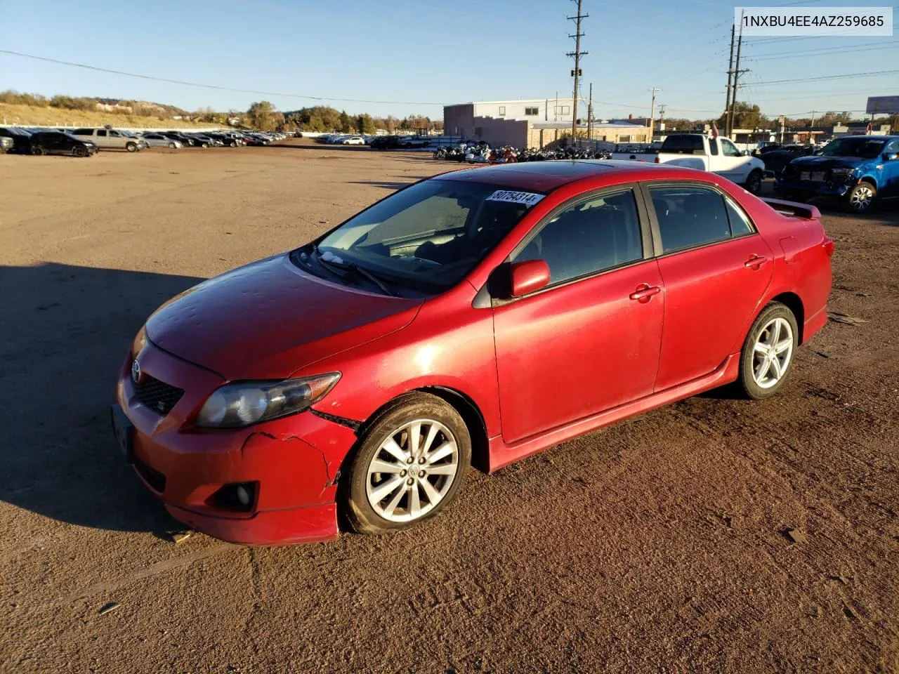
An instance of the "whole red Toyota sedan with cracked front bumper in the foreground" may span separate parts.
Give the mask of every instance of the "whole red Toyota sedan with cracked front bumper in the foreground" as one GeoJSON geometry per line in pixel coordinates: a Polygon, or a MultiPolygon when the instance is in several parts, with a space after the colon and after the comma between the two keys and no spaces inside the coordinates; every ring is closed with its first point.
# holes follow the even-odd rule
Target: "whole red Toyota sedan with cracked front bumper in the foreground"
{"type": "Polygon", "coordinates": [[[151,315],[120,447],[175,518],[271,545],[414,526],[472,464],[716,386],[772,395],[826,320],[833,242],[770,204],[624,162],[417,182],[151,315]]]}

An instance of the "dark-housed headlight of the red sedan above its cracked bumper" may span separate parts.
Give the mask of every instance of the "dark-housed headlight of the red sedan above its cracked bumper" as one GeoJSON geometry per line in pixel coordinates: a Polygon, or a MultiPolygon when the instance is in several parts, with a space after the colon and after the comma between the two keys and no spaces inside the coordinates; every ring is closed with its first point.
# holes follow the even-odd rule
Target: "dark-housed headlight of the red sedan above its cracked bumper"
{"type": "Polygon", "coordinates": [[[197,425],[241,428],[305,410],[327,395],[339,372],[280,382],[236,382],[210,395],[197,415],[197,425]]]}

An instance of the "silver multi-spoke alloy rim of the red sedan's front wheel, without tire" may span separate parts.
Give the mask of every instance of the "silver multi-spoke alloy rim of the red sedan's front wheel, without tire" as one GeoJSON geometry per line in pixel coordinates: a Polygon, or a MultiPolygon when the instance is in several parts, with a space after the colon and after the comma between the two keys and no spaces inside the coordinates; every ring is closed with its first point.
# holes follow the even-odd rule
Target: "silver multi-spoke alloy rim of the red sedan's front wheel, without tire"
{"type": "Polygon", "coordinates": [[[458,444],[440,421],[416,419],[387,435],[371,458],[369,505],[390,522],[419,519],[443,501],[459,470],[458,444]]]}

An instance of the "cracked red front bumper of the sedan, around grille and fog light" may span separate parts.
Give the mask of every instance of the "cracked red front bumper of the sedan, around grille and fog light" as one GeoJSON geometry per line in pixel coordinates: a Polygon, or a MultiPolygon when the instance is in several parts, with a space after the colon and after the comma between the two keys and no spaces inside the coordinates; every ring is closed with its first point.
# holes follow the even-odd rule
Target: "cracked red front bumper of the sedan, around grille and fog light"
{"type": "Polygon", "coordinates": [[[131,357],[116,387],[117,402],[134,424],[135,472],[175,519],[249,545],[337,536],[337,476],[356,441],[352,429],[308,411],[245,429],[200,429],[191,420],[225,383],[222,378],[149,342],[138,360],[142,377],[184,390],[165,415],[141,404],[130,377],[131,357]],[[222,506],[215,498],[233,483],[256,483],[249,510],[222,506]]]}

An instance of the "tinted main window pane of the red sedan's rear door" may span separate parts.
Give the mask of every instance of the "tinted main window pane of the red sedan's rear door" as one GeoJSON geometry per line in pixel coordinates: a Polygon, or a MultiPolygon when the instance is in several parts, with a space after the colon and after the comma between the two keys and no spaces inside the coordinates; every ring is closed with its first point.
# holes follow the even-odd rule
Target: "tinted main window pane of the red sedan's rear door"
{"type": "Polygon", "coordinates": [[[724,197],[699,185],[650,187],[663,253],[731,237],[724,197]]]}

